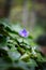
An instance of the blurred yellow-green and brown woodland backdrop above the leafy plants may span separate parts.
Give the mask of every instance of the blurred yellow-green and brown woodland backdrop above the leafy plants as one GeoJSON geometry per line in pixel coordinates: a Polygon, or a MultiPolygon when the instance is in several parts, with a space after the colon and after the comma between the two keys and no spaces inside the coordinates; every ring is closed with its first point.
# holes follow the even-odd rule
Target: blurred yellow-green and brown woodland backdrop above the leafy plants
{"type": "Polygon", "coordinates": [[[0,0],[0,18],[20,23],[30,31],[39,28],[46,32],[45,0],[0,0]]]}

